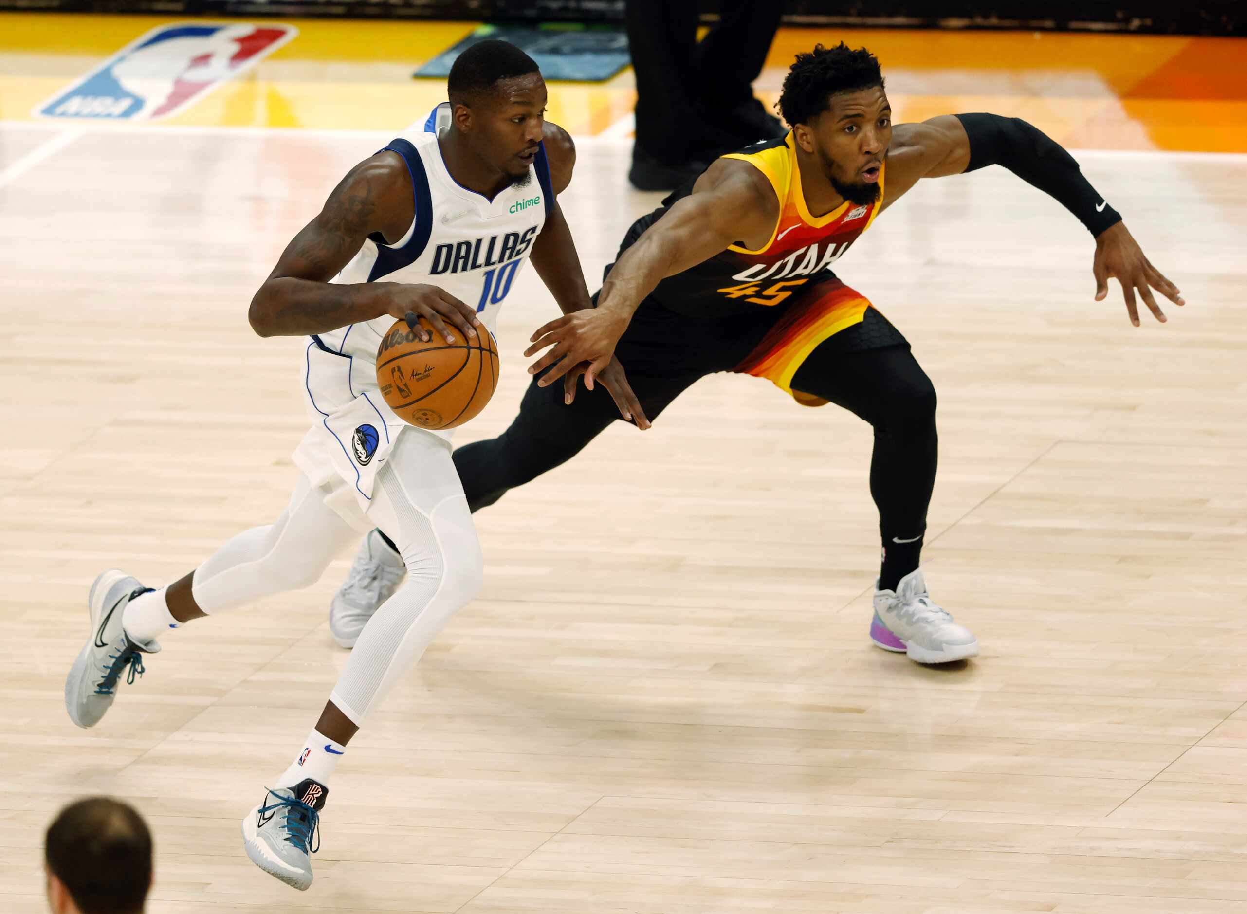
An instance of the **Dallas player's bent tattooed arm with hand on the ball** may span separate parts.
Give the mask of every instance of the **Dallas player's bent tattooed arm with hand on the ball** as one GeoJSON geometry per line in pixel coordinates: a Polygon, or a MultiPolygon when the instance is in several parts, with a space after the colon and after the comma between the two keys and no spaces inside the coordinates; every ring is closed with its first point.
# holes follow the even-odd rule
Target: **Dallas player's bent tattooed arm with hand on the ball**
{"type": "MultiPolygon", "coordinates": [[[[352,168],[251,299],[252,329],[261,337],[299,337],[393,314],[410,315],[409,324],[423,315],[448,340],[445,320],[475,335],[475,310],[436,286],[329,282],[373,232],[399,239],[414,207],[412,178],[395,153],[379,152],[352,168]]],[[[428,339],[419,324],[413,329],[428,339]]]]}

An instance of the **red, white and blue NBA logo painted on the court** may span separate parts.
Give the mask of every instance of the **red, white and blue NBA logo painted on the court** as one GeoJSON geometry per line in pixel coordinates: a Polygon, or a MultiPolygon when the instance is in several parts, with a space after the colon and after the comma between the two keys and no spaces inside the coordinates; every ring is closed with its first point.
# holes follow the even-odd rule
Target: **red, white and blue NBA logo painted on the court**
{"type": "Polygon", "coordinates": [[[35,113],[96,121],[170,117],[297,34],[292,25],[163,25],[117,51],[35,113]]]}

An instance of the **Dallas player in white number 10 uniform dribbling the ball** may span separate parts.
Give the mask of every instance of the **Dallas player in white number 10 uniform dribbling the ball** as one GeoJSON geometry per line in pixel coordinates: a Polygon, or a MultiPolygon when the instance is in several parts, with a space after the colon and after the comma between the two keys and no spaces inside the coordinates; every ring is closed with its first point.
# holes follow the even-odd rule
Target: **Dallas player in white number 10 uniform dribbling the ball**
{"type": "MultiPolygon", "coordinates": [[[[132,685],[143,657],[161,650],[158,635],[306,587],[360,532],[383,530],[407,581],[363,628],[315,727],[243,819],[251,859],[297,889],[312,884],[313,835],[347,744],[481,580],[449,435],[407,425],[378,394],[382,334],[407,318],[429,339],[418,317],[448,340],[448,324],[469,339],[490,332],[526,259],[564,312],[590,305],[556,202],[575,151],[544,122],[536,64],[485,41],[456,60],[448,90],[449,105],[347,175],[252,301],[259,335],[308,338],[302,373],[313,424],[294,453],[299,478],[284,514],[158,590],[121,571],[100,575],[90,637],[65,683],[71,719],[95,726],[121,677],[132,685]]],[[[636,398],[622,369],[607,374],[628,415],[636,398]]]]}

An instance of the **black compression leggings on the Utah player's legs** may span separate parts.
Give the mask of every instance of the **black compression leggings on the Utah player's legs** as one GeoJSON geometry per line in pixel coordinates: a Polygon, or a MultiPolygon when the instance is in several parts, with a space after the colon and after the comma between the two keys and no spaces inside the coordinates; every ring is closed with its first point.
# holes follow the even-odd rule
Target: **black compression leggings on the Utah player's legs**
{"type": "MultiPolygon", "coordinates": [[[[908,345],[854,353],[835,349],[824,343],[811,353],[792,385],[831,400],[874,426],[870,495],[879,509],[884,542],[890,537],[920,536],[935,485],[935,388],[908,345]]],[[[697,377],[637,375],[631,383],[646,414],[653,419],[697,377]]],[[[469,508],[476,511],[491,505],[508,489],[524,485],[575,456],[619,418],[605,390],[590,393],[581,388],[575,403],[567,406],[562,402],[562,384],[539,388],[534,380],[505,433],[454,451],[469,508]]]]}

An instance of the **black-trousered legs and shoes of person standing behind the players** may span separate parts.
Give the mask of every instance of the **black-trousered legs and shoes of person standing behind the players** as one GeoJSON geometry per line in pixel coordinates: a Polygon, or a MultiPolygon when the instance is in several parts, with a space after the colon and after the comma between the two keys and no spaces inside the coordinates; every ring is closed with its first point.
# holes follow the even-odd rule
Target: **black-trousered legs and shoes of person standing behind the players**
{"type": "Polygon", "coordinates": [[[633,187],[673,190],[723,152],[783,136],[752,87],[779,27],[779,0],[722,0],[701,41],[696,0],[627,0],[625,10],[636,74],[633,187]]]}

